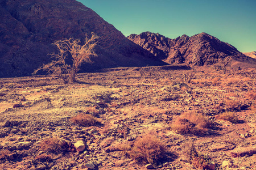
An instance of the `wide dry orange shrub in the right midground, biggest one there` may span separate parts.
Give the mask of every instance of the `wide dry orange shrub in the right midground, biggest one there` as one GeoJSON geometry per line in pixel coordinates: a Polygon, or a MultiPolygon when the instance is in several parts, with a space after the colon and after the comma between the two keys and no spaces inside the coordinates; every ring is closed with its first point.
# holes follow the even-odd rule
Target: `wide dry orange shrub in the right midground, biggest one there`
{"type": "Polygon", "coordinates": [[[179,134],[203,135],[212,128],[213,124],[206,117],[195,113],[183,113],[171,125],[171,128],[179,134]]]}

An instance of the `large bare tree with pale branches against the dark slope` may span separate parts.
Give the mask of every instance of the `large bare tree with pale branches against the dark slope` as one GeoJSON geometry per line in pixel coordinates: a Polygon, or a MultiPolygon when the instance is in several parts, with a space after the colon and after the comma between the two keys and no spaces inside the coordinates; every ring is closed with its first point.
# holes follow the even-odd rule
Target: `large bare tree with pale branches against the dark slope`
{"type": "Polygon", "coordinates": [[[80,45],[79,39],[64,39],[58,40],[53,44],[57,46],[59,53],[52,53],[52,58],[55,58],[52,62],[39,67],[34,71],[33,74],[38,73],[39,70],[46,70],[48,74],[58,75],[61,79],[67,82],[76,82],[76,73],[79,71],[79,68],[82,63],[92,63],[90,60],[91,56],[97,56],[94,53],[94,48],[98,43],[96,40],[98,36],[92,33],[92,36],[89,37],[86,35],[84,45],[80,45]],[[68,57],[71,56],[72,64],[67,63],[68,57]],[[69,76],[65,76],[68,74],[69,76]]]}

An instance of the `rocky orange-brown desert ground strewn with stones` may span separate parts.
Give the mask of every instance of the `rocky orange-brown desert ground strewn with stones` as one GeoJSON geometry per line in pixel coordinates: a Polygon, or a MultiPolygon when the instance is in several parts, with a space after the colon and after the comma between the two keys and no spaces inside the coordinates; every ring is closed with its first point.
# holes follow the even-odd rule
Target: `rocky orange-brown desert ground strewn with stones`
{"type": "Polygon", "coordinates": [[[203,169],[189,159],[193,143],[208,169],[256,169],[255,69],[224,75],[200,67],[191,82],[192,70],[140,69],[79,74],[75,84],[52,76],[0,79],[0,168],[203,169]],[[218,118],[225,112],[238,121],[218,118]],[[80,113],[100,123],[77,125],[71,118],[80,113]],[[179,133],[172,125],[184,113],[212,126],[179,133]],[[144,136],[164,143],[167,158],[146,167],[149,162],[138,163],[122,149],[144,136]]]}

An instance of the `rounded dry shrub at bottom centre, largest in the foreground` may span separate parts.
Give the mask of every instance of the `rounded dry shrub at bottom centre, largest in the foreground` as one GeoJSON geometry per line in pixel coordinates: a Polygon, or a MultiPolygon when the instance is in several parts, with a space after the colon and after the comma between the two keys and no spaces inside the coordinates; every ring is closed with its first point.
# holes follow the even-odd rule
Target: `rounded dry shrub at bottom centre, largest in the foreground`
{"type": "Polygon", "coordinates": [[[139,164],[156,165],[167,158],[168,150],[167,146],[158,138],[147,134],[135,141],[129,155],[139,164]]]}

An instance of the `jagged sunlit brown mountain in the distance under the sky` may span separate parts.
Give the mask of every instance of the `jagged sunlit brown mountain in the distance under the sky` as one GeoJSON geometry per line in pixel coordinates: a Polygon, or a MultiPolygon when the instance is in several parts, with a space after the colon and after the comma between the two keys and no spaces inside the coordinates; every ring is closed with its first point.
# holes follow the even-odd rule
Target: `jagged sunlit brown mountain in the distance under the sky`
{"type": "Polygon", "coordinates": [[[154,54],[155,57],[170,64],[212,65],[219,58],[228,56],[240,62],[256,64],[256,59],[245,56],[234,46],[204,32],[191,37],[183,35],[176,39],[169,39],[159,33],[151,32],[132,34],[127,38],[154,54]]]}

